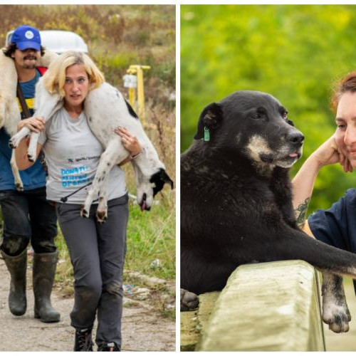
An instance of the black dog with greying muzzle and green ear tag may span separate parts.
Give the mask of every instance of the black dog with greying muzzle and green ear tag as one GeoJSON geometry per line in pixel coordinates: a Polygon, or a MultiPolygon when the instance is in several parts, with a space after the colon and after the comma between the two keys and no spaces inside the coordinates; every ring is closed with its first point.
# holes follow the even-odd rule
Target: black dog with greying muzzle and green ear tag
{"type": "MultiPolygon", "coordinates": [[[[311,239],[295,221],[289,168],[304,137],[271,95],[240,91],[207,106],[181,159],[181,287],[221,290],[243,263],[303,259],[324,272],[323,320],[347,331],[342,278],[356,255],[311,239]],[[335,274],[331,274],[335,273],[335,274]]],[[[197,298],[182,290],[182,310],[197,298]]]]}

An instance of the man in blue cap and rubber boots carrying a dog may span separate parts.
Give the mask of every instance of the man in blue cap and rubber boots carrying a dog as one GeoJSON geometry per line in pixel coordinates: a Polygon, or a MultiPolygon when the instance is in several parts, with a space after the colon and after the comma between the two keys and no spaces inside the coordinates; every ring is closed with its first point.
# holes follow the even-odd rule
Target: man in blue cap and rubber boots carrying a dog
{"type": "MultiPolygon", "coordinates": [[[[31,130],[41,130],[43,121],[32,118],[35,85],[45,70],[38,67],[44,54],[40,33],[31,26],[19,26],[12,34],[11,43],[3,52],[0,53],[1,56],[14,60],[18,76],[17,101],[21,112],[18,129],[26,126],[31,130]]],[[[56,211],[46,200],[46,173],[39,160],[32,167],[20,172],[23,191],[16,190],[10,165],[9,139],[8,132],[2,127],[0,206],[4,230],[0,253],[11,275],[9,308],[14,315],[26,313],[27,245],[31,240],[34,251],[34,316],[44,323],[57,322],[60,320],[60,314],[51,305],[51,291],[58,260],[58,251],[54,244],[57,234],[56,211]]]]}

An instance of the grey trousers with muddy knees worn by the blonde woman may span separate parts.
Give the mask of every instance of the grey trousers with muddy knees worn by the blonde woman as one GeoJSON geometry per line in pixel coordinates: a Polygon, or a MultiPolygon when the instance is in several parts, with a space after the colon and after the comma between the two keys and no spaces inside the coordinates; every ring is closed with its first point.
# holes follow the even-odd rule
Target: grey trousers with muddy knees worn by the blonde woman
{"type": "Polygon", "coordinates": [[[56,204],[75,278],[71,325],[77,330],[91,329],[98,312],[97,345],[115,342],[121,347],[127,201],[127,194],[108,201],[105,224],[95,219],[98,204],[91,206],[88,219],[80,216],[79,204],[56,204]]]}

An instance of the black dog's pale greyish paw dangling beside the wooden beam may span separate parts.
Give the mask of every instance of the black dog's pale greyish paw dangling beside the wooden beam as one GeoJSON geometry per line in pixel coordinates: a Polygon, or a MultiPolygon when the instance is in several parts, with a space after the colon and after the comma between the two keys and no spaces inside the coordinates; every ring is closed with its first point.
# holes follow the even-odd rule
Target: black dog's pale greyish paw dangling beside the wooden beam
{"type": "Polygon", "coordinates": [[[334,333],[349,331],[350,311],[347,305],[323,305],[323,321],[334,333]]]}

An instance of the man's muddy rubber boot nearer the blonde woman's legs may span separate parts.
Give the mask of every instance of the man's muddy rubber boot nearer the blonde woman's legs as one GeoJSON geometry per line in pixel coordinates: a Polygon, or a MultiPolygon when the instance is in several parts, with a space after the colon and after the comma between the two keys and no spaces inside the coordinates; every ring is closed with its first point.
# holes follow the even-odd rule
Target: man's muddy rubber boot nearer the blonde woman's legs
{"type": "Polygon", "coordinates": [[[54,323],[61,315],[51,305],[51,293],[56,273],[58,251],[33,253],[33,294],[35,295],[35,318],[43,323],[54,323]]]}

